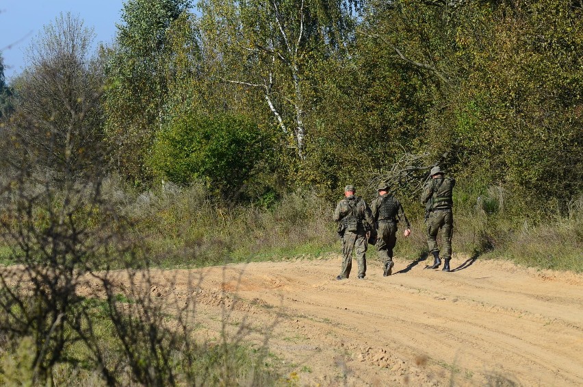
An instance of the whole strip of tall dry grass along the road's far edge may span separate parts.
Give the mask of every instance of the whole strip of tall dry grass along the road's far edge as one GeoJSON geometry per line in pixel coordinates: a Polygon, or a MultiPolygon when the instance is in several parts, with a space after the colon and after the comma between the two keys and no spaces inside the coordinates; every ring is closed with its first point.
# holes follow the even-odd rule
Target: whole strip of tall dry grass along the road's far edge
{"type": "MultiPolygon", "coordinates": [[[[147,241],[162,267],[195,267],[251,260],[277,260],[298,255],[339,252],[332,213],[335,203],[315,192],[283,195],[265,208],[238,205],[229,210],[201,184],[138,194],[114,179],[107,195],[135,222],[133,232],[147,241]]],[[[456,187],[454,253],[502,258],[541,269],[583,272],[583,196],[568,214],[549,210],[532,214],[523,201],[500,186],[472,190],[456,187]]],[[[416,260],[427,252],[426,226],[420,203],[404,199],[413,234],[402,238],[399,224],[396,255],[416,260]]],[[[368,257],[376,258],[374,247],[368,257]]]]}

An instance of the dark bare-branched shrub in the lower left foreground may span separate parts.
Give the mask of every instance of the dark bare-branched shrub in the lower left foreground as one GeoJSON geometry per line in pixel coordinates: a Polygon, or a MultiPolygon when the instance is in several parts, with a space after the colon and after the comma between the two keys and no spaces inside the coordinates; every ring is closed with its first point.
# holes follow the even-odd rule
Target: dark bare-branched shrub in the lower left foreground
{"type": "Polygon", "coordinates": [[[13,168],[0,187],[0,236],[14,263],[0,270],[0,332],[16,365],[0,379],[54,384],[68,372],[107,385],[261,384],[261,371],[241,369],[255,367],[242,362],[245,329],[210,351],[193,329],[197,292],[160,298],[147,249],[118,203],[103,199],[101,179],[55,186],[50,173],[13,168]]]}

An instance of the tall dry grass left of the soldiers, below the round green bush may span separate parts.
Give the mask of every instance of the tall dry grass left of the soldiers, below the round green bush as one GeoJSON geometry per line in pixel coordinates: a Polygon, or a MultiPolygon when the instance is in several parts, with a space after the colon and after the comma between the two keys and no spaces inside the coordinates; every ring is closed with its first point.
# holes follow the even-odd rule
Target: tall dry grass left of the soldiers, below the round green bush
{"type": "Polygon", "coordinates": [[[162,267],[194,267],[250,260],[319,255],[334,249],[331,203],[313,192],[292,192],[270,208],[229,209],[200,184],[141,194],[108,182],[106,195],[135,225],[162,267]]]}

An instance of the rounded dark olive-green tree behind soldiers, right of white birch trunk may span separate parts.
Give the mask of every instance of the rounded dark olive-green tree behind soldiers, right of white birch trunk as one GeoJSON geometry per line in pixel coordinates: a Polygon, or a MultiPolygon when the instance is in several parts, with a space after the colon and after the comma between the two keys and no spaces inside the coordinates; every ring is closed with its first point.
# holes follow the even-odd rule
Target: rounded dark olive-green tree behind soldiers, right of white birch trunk
{"type": "Polygon", "coordinates": [[[300,179],[331,190],[331,197],[346,182],[367,187],[372,175],[402,153],[424,150],[417,128],[431,107],[431,88],[406,71],[378,37],[361,32],[359,38],[350,60],[320,63],[322,99],[308,121],[312,134],[300,179]]]}

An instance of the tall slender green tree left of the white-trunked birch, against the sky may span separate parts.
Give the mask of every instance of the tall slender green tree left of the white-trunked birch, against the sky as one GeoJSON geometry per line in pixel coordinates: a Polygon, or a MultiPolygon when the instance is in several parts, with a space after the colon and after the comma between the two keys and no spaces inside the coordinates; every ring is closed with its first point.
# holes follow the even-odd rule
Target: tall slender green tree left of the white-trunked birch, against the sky
{"type": "Polygon", "coordinates": [[[189,6],[189,0],[128,0],[116,44],[102,52],[107,139],[120,170],[136,182],[151,177],[144,160],[168,97],[167,68],[174,57],[168,32],[189,6]]]}

